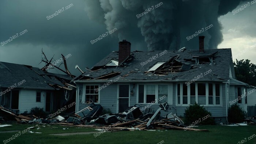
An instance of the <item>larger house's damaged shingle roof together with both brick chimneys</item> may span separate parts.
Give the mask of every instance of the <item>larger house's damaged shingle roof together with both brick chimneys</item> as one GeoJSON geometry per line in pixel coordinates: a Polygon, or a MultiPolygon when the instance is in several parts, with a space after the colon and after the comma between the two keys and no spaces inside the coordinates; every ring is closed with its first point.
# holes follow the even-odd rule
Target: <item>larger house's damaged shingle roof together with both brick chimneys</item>
{"type": "Polygon", "coordinates": [[[183,47],[179,51],[131,52],[131,43],[123,40],[118,52],[110,53],[74,81],[108,80],[116,76],[120,81],[188,81],[199,75],[200,80],[226,81],[230,68],[233,71],[231,49],[204,50],[204,36],[199,36],[199,49],[190,51],[183,47]]]}

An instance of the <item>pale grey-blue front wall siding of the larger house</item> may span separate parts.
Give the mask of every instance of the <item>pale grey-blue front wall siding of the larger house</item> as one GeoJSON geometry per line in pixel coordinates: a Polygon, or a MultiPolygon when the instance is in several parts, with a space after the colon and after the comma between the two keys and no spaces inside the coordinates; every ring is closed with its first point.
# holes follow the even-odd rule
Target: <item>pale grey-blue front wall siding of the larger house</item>
{"type": "MultiPolygon", "coordinates": [[[[82,104],[82,97],[84,94],[85,86],[83,84],[77,83],[79,90],[78,90],[78,111],[89,106],[88,104],[82,104]]],[[[103,83],[100,84],[102,86],[103,83]]],[[[132,83],[130,85],[130,90],[133,89],[133,95],[130,95],[130,105],[133,106],[137,104],[137,84],[132,83]],[[134,85],[135,84],[135,85],[134,85]],[[134,86],[134,88],[133,88],[134,86]]],[[[103,88],[100,91],[100,103],[104,109],[110,108],[112,113],[117,112],[117,87],[118,83],[110,84],[108,87],[103,88]]],[[[234,89],[234,88],[233,88],[234,89]]],[[[231,94],[234,91],[230,90],[231,94]]],[[[168,97],[170,98],[170,97],[168,97]]],[[[227,101],[228,103],[228,101],[227,101]]],[[[207,111],[211,112],[212,117],[226,117],[226,88],[225,83],[222,84],[222,99],[221,99],[221,106],[204,106],[207,111]]],[[[146,106],[148,104],[140,104],[142,106],[146,106]]],[[[159,108],[159,104],[153,104],[150,108],[153,108],[156,111],[159,108]]],[[[172,84],[172,104],[169,104],[169,109],[167,112],[161,111],[161,115],[166,115],[169,113],[177,113],[178,116],[184,116],[185,109],[188,108],[187,106],[176,106],[176,84],[172,84]]]]}

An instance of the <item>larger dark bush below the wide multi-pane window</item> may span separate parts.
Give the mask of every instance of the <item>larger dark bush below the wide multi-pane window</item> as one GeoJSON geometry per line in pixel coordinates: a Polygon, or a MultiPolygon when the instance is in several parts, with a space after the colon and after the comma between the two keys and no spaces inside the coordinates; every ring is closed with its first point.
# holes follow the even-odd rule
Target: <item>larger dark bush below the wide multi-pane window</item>
{"type": "Polygon", "coordinates": [[[206,125],[206,124],[214,124],[214,119],[211,117],[211,113],[208,112],[203,106],[201,107],[198,104],[195,105],[189,105],[188,108],[185,109],[184,113],[184,123],[187,125],[190,124],[200,124],[200,125],[206,125]],[[205,120],[203,120],[203,117],[206,117],[205,120]]]}

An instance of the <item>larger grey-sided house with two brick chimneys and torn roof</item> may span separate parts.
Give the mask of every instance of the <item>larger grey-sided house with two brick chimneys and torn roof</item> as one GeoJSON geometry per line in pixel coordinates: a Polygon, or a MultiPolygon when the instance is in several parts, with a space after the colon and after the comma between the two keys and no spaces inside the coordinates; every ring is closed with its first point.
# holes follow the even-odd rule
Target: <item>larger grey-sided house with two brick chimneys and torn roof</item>
{"type": "MultiPolygon", "coordinates": [[[[156,111],[160,103],[167,102],[169,112],[161,114],[183,116],[189,105],[197,103],[216,121],[225,122],[229,101],[252,88],[236,80],[231,56],[230,48],[204,49],[204,36],[199,37],[198,50],[182,48],[164,53],[131,52],[131,43],[120,41],[119,52],[111,52],[72,80],[77,85],[76,112],[92,102],[113,113],[149,103],[156,111]]],[[[244,111],[246,99],[237,101],[244,111]]]]}

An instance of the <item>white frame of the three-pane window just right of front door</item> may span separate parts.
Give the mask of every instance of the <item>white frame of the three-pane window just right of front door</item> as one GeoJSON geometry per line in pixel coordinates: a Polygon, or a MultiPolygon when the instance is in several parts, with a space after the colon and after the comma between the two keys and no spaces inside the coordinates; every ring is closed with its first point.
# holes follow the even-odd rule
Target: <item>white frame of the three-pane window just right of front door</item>
{"type": "MultiPolygon", "coordinates": [[[[136,103],[137,104],[148,104],[146,103],[146,93],[147,93],[147,86],[146,85],[155,85],[155,99],[157,99],[155,101],[155,104],[156,105],[160,105],[158,103],[158,85],[167,85],[167,103],[169,105],[172,105],[173,104],[173,84],[167,84],[167,83],[139,83],[136,85],[137,87],[137,100],[136,100],[136,103]],[[143,103],[139,103],[139,85],[144,85],[144,102],[143,103]]],[[[161,102],[161,101],[160,101],[161,102]]]]}

